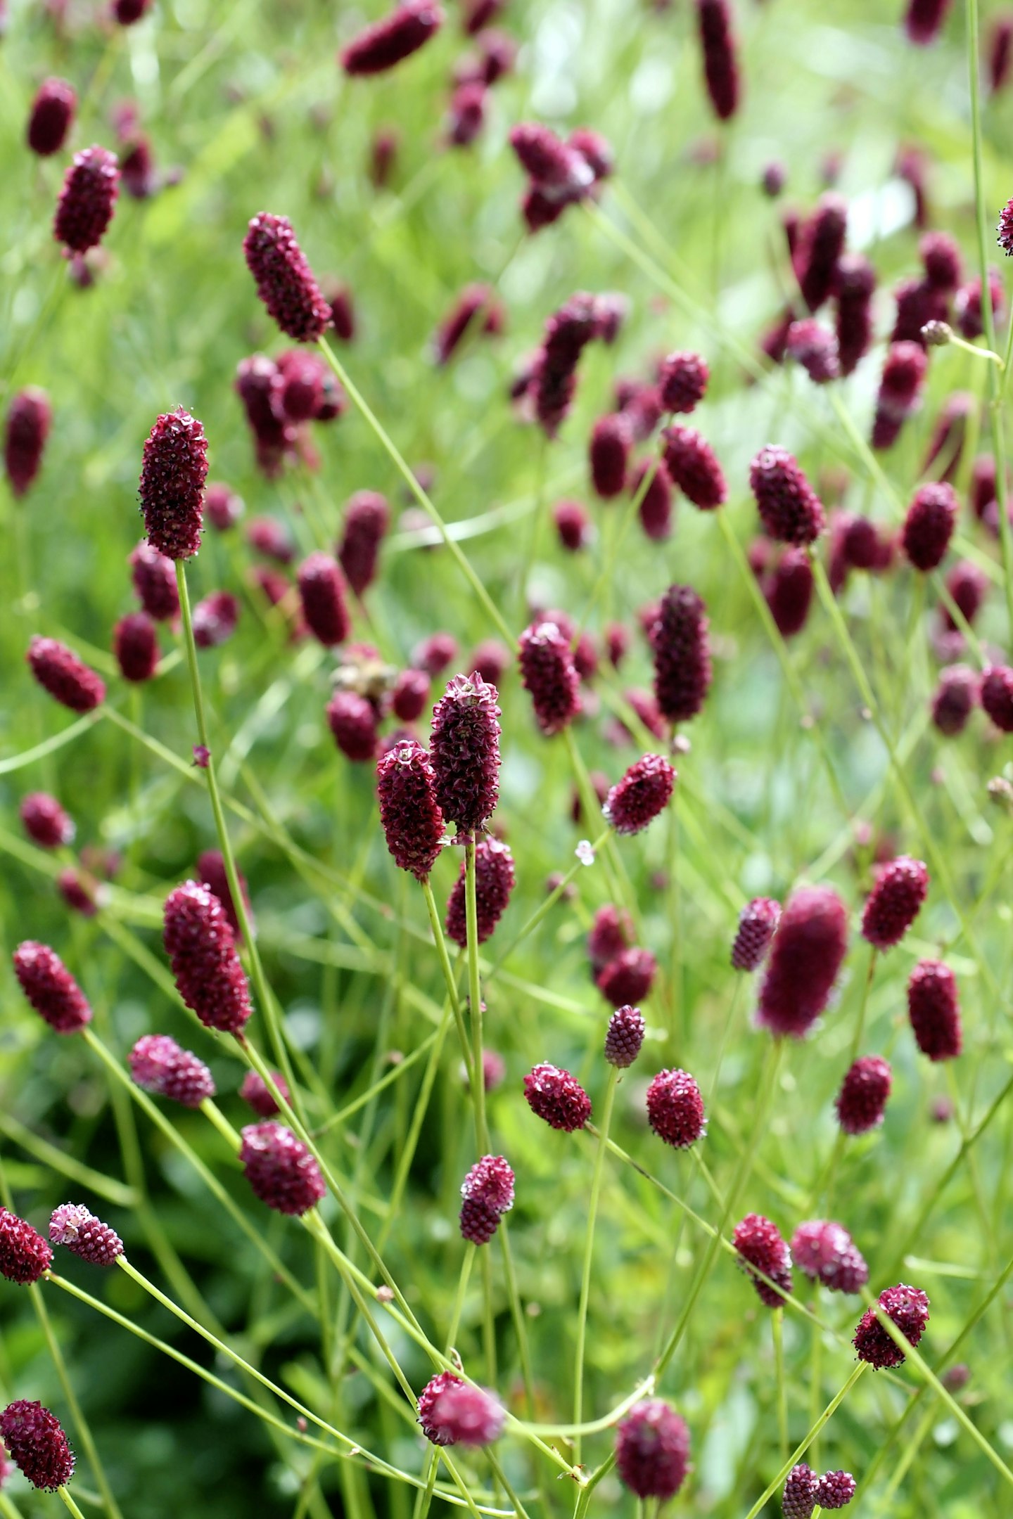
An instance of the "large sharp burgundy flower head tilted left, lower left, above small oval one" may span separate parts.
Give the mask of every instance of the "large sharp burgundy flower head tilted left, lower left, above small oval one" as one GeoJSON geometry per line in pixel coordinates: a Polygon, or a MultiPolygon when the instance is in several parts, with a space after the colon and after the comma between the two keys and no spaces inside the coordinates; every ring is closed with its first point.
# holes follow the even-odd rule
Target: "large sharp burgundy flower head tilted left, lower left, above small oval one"
{"type": "Polygon", "coordinates": [[[163,940],[176,987],[205,1028],[237,1034],[252,1013],[249,984],[222,902],[185,881],[166,898],[163,940]]]}

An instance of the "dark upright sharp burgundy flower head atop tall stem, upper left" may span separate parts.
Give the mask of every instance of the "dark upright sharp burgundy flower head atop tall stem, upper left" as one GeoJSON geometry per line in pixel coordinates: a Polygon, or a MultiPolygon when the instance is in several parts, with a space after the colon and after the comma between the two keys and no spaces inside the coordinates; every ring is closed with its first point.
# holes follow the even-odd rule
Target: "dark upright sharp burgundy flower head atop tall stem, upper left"
{"type": "Polygon", "coordinates": [[[152,548],[169,559],[190,559],[200,547],[208,441],[204,427],[179,407],[159,416],[144,444],[138,492],[152,548]]]}

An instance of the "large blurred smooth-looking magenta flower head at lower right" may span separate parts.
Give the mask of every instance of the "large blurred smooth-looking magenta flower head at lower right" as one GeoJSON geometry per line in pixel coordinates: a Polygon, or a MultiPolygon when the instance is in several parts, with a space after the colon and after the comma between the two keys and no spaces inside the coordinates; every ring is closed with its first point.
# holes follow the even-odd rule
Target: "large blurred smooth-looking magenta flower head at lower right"
{"type": "Polygon", "coordinates": [[[788,898],[759,989],[756,1019],[773,1034],[802,1039],[825,1010],[847,948],[847,911],[829,886],[788,898]]]}

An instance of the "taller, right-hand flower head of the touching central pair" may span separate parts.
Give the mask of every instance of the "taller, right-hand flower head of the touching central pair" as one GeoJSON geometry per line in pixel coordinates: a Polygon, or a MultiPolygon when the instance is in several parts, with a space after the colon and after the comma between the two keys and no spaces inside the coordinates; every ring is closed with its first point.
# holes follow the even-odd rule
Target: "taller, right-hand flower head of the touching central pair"
{"type": "Polygon", "coordinates": [[[478,673],[456,674],[433,709],[430,761],[436,801],[460,832],[481,828],[500,797],[498,691],[478,673]]]}

